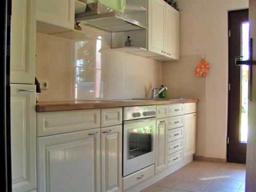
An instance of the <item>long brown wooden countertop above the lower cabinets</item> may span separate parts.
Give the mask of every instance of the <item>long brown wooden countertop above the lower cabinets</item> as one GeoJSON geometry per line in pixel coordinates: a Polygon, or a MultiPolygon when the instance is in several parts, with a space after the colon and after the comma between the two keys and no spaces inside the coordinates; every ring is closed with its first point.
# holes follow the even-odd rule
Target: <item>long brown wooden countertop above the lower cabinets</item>
{"type": "Polygon", "coordinates": [[[65,101],[39,101],[36,104],[36,112],[86,110],[100,108],[116,108],[122,106],[175,104],[198,102],[199,99],[182,100],[65,100],[65,101]]]}

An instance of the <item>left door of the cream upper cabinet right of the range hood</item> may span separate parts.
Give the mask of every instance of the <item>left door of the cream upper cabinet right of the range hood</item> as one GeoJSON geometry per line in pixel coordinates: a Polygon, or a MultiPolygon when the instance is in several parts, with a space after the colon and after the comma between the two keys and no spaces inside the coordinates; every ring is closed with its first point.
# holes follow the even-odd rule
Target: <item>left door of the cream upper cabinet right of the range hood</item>
{"type": "Polygon", "coordinates": [[[165,2],[148,1],[148,50],[165,55],[165,2]]]}

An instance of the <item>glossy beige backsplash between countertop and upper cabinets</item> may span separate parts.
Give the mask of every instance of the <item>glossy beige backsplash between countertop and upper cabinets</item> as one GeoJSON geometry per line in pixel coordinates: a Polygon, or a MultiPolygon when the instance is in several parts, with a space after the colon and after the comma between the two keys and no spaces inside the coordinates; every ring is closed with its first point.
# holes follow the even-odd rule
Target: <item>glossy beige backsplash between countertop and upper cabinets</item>
{"type": "Polygon", "coordinates": [[[111,33],[69,40],[37,33],[36,77],[48,81],[39,100],[151,97],[162,62],[112,50],[111,33]]]}

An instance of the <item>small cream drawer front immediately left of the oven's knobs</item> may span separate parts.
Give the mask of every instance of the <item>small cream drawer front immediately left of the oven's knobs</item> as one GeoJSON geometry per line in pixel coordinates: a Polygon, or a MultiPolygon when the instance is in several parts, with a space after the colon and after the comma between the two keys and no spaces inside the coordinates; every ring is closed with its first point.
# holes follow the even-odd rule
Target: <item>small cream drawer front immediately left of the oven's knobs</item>
{"type": "Polygon", "coordinates": [[[123,109],[110,108],[101,110],[101,125],[100,127],[114,126],[122,124],[123,109]]]}

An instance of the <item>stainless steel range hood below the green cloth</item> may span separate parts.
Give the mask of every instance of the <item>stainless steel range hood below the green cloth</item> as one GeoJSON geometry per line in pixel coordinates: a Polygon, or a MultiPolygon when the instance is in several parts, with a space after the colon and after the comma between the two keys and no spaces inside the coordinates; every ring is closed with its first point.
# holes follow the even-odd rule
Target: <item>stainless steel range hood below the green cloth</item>
{"type": "Polygon", "coordinates": [[[81,24],[90,24],[111,32],[147,29],[145,24],[138,22],[129,15],[117,12],[98,2],[88,4],[86,11],[76,14],[75,18],[81,24]]]}

